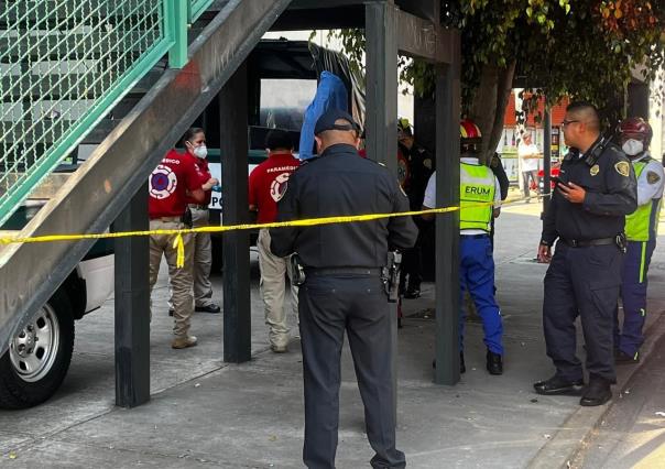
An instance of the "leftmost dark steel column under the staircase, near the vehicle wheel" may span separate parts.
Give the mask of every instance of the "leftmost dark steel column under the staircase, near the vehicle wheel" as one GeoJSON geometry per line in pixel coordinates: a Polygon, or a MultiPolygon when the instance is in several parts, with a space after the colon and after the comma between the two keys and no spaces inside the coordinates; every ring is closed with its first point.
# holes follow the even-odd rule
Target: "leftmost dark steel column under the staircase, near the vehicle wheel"
{"type": "MultiPolygon", "coordinates": [[[[112,225],[113,231],[143,231],[148,187],[143,185],[112,225]]],[[[116,405],[150,401],[150,258],[146,237],[118,238],[116,252],[116,405]]]]}

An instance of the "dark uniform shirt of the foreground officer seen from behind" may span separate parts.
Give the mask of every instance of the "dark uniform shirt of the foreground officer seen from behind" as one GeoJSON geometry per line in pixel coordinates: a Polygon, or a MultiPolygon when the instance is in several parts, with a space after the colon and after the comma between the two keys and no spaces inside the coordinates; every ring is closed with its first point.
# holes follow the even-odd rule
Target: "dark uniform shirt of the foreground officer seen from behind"
{"type": "MultiPolygon", "coordinates": [[[[301,165],[277,206],[277,221],[408,210],[408,199],[390,171],[358,157],[355,146],[332,145],[301,165]]],[[[411,217],[353,223],[271,229],[271,250],[297,252],[307,268],[380,268],[388,249],[407,249],[417,238],[411,217]]]]}

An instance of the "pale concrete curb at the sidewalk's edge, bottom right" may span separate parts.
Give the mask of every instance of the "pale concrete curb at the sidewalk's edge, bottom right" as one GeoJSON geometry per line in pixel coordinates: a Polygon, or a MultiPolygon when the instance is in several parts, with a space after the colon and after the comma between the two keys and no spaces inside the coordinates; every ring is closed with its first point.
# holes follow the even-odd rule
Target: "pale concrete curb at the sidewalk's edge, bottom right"
{"type": "Polygon", "coordinates": [[[598,407],[579,407],[575,411],[557,433],[549,439],[528,462],[530,469],[571,468],[576,457],[584,451],[589,437],[610,412],[614,402],[621,399],[629,388],[631,378],[644,366],[662,337],[665,337],[665,310],[657,314],[656,319],[645,330],[645,341],[641,348],[642,358],[637,366],[617,368],[617,385],[614,397],[606,405],[598,407]]]}

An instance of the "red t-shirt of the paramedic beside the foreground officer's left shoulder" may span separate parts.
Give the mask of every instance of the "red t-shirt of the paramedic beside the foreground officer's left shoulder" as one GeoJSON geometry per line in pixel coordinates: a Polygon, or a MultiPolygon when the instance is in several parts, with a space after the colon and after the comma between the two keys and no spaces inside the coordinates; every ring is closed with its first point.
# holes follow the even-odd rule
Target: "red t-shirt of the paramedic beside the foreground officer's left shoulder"
{"type": "Polygon", "coordinates": [[[291,153],[277,153],[254,167],[249,178],[249,204],[259,208],[259,223],[277,219],[277,201],[284,196],[288,177],[301,165],[291,153]]]}

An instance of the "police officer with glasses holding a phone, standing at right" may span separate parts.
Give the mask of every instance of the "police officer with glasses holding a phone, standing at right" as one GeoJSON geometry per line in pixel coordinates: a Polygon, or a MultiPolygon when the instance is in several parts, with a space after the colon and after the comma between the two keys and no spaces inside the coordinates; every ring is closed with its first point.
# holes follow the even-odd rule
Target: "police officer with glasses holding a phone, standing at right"
{"type": "Polygon", "coordinates": [[[582,366],[576,356],[575,320],[581,318],[589,383],[580,405],[602,405],[615,383],[614,309],[621,285],[625,216],[637,207],[636,181],[621,149],[600,135],[597,109],[574,102],[563,122],[569,153],[543,220],[538,261],[545,275],[543,327],[556,374],[534,384],[538,394],[579,394],[582,366]],[[552,257],[552,246],[558,239],[552,257]]]}

